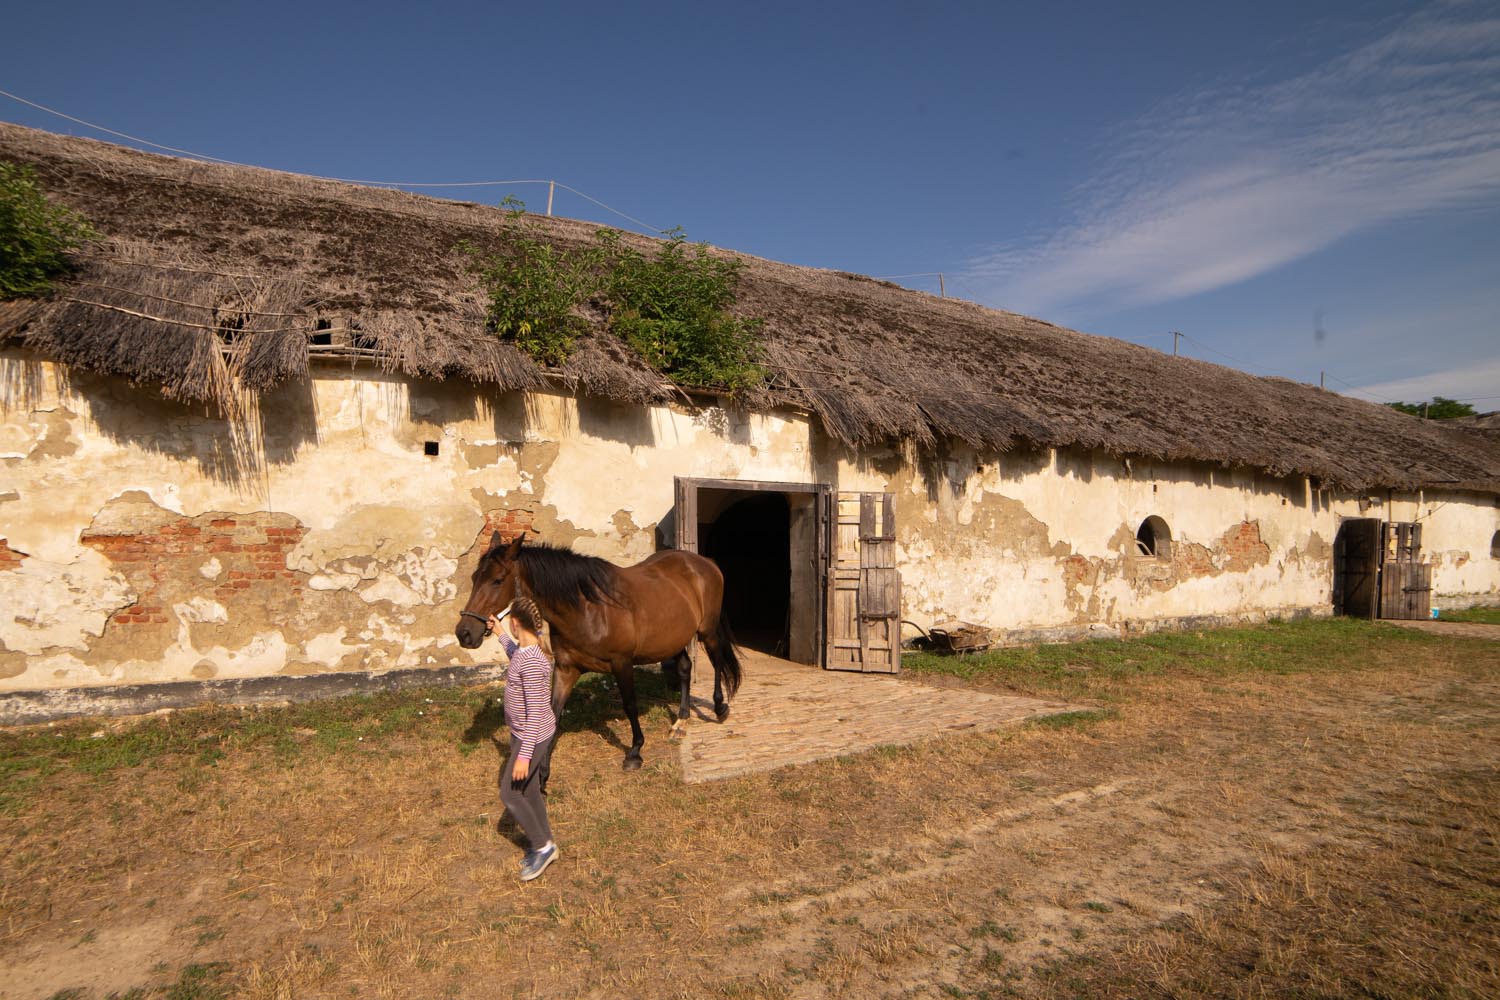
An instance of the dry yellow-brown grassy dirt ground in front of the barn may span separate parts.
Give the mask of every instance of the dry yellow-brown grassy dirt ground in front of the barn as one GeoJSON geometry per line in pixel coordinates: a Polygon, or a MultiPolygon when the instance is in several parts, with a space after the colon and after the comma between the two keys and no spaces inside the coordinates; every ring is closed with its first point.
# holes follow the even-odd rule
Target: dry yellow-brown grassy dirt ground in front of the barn
{"type": "Polygon", "coordinates": [[[585,690],[526,886],[494,691],[6,733],[0,997],[1500,996],[1500,643],[1305,628],[690,786],[585,690]]]}

